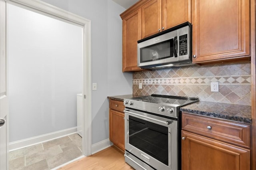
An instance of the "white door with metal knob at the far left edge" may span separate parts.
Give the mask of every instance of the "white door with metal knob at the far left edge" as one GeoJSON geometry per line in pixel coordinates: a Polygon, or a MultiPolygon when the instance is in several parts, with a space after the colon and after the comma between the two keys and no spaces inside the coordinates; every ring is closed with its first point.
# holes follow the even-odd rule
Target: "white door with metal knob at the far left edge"
{"type": "Polygon", "coordinates": [[[0,170],[8,169],[8,94],[6,93],[6,2],[0,0],[0,170]]]}

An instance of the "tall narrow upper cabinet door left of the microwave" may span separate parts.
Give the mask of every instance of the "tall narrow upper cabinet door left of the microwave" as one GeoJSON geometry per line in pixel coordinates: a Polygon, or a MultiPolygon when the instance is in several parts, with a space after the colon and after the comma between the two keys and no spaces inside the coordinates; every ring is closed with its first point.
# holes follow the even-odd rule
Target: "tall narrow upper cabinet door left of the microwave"
{"type": "Polygon", "coordinates": [[[137,41],[140,40],[140,10],[133,12],[123,22],[122,71],[139,71],[137,65],[137,41]]]}

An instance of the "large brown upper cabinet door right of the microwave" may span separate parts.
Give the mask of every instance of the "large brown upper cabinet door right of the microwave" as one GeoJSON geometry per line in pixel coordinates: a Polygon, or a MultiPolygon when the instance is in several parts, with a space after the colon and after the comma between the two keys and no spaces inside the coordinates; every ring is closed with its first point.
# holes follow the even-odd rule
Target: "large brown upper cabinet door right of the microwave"
{"type": "Polygon", "coordinates": [[[250,55],[249,12],[249,0],[192,0],[193,62],[250,55]]]}

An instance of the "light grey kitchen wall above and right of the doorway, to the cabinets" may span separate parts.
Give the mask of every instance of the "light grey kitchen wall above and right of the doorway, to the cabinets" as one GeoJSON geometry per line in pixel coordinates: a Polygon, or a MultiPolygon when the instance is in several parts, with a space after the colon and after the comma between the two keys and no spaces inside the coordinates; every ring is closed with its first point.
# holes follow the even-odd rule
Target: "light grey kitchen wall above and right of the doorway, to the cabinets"
{"type": "Polygon", "coordinates": [[[107,96],[132,94],[132,74],[122,73],[125,10],[112,0],[43,0],[92,21],[92,144],[109,138],[107,96]]]}

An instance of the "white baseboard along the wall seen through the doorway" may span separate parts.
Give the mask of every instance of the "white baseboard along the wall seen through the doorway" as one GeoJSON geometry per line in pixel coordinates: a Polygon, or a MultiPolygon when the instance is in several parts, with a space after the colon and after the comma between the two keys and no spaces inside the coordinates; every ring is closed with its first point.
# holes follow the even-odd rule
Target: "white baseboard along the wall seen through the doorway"
{"type": "Polygon", "coordinates": [[[25,148],[25,147],[28,147],[28,146],[31,146],[34,144],[46,142],[48,140],[52,140],[55,138],[60,138],[62,136],[67,136],[67,135],[75,133],[75,132],[77,132],[77,128],[73,127],[73,128],[68,128],[68,129],[64,129],[64,130],[60,130],[60,131],[56,131],[56,132],[52,132],[52,133],[48,133],[48,134],[43,134],[40,136],[35,136],[32,138],[26,138],[26,139],[18,140],[15,142],[10,142],[9,143],[9,151],[17,150],[20,148],[25,148]]]}

